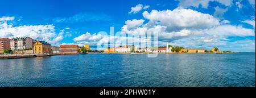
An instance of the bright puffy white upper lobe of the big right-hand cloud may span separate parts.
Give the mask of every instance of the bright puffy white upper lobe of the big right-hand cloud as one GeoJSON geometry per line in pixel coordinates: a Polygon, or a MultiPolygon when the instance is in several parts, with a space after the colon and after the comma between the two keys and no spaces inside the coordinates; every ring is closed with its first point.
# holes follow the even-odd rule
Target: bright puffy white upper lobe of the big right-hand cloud
{"type": "Polygon", "coordinates": [[[167,30],[169,31],[180,29],[205,29],[219,24],[218,19],[209,14],[183,8],[176,8],[173,11],[152,10],[150,13],[144,11],[143,17],[150,20],[147,26],[162,24],[167,26],[167,30]]]}

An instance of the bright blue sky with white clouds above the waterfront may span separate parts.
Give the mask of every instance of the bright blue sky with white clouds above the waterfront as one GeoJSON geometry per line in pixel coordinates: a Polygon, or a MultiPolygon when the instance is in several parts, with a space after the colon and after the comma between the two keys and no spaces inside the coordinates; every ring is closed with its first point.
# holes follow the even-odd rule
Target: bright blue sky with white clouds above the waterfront
{"type": "Polygon", "coordinates": [[[134,36],[157,32],[159,46],[255,52],[255,0],[0,0],[0,38],[94,50],[99,42],[129,39],[99,33],[110,34],[110,27],[134,36]]]}

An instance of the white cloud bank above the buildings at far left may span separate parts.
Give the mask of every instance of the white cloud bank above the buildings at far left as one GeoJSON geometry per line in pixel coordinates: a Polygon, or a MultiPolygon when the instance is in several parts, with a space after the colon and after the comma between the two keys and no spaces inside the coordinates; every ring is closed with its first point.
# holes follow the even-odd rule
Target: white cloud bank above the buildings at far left
{"type": "Polygon", "coordinates": [[[0,37],[31,37],[35,40],[43,40],[52,44],[59,43],[63,37],[55,31],[54,25],[22,25],[14,26],[7,21],[14,21],[15,17],[1,18],[0,21],[0,37]]]}

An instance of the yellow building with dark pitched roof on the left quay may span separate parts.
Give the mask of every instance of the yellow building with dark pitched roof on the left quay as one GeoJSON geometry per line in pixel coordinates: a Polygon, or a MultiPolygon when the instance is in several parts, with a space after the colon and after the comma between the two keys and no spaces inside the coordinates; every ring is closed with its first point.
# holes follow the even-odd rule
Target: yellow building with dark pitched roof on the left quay
{"type": "Polygon", "coordinates": [[[50,54],[51,44],[44,41],[36,41],[34,44],[34,54],[50,54]]]}

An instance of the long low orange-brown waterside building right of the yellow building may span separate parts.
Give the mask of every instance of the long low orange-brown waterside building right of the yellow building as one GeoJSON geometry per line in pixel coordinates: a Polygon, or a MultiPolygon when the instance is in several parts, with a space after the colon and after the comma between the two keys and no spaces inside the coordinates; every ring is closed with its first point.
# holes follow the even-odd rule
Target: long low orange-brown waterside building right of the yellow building
{"type": "Polygon", "coordinates": [[[78,54],[79,46],[78,45],[61,45],[60,54],[78,54]]]}

